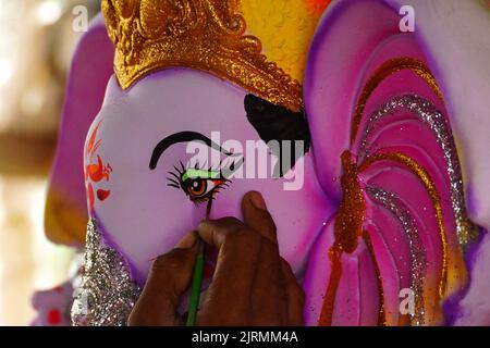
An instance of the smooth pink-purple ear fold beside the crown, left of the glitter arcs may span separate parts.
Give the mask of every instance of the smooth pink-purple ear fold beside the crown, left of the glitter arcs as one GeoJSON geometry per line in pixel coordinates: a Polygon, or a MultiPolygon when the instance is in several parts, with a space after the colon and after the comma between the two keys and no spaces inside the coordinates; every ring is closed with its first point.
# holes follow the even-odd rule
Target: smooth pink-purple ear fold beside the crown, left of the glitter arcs
{"type": "Polygon", "coordinates": [[[369,55],[383,39],[400,34],[397,21],[382,1],[338,1],[323,14],[313,40],[304,99],[318,177],[335,199],[341,195],[335,183],[342,173],[340,156],[350,147],[351,117],[369,55]]]}

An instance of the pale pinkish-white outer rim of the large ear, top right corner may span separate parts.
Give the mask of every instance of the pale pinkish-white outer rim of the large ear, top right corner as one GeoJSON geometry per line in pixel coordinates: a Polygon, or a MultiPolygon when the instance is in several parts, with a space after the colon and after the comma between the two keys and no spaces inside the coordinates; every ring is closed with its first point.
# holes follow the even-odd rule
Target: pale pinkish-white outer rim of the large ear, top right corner
{"type": "MultiPolygon", "coordinates": [[[[390,0],[400,8],[403,0],[390,0]]],[[[416,37],[441,86],[463,157],[471,220],[490,231],[490,8],[479,0],[411,1],[416,37]]],[[[488,3],[488,1],[487,1],[488,3]]]]}

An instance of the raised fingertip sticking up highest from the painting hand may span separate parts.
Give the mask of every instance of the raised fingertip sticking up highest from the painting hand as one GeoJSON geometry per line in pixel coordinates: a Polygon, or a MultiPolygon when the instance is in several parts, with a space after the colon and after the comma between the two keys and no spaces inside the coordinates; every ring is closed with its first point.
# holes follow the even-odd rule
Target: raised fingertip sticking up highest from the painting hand
{"type": "Polygon", "coordinates": [[[247,192],[242,200],[242,213],[246,225],[260,233],[272,243],[278,243],[274,221],[267,210],[262,196],[257,191],[247,192]]]}

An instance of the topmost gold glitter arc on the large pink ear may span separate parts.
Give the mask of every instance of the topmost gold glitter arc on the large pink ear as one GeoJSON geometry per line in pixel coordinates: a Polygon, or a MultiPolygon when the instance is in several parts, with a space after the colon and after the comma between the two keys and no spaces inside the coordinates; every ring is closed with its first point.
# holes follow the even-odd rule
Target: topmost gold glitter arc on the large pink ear
{"type": "Polygon", "coordinates": [[[357,129],[363,117],[363,112],[366,107],[366,102],[375,91],[375,89],[381,84],[381,82],[388,76],[397,73],[402,70],[411,70],[418,76],[420,76],[436,92],[436,95],[442,100],[442,92],[436,82],[436,77],[430,70],[419,60],[411,57],[400,57],[384,62],[380,67],[376,70],[371,77],[367,80],[363,88],[363,91],[357,101],[356,110],[353,116],[353,123],[351,127],[351,145],[354,144],[357,135],[357,129]]]}

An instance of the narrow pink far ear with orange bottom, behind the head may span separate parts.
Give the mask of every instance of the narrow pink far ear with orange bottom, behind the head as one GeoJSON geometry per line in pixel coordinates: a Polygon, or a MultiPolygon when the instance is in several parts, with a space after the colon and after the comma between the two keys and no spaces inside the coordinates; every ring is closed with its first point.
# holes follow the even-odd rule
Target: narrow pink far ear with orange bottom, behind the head
{"type": "Polygon", "coordinates": [[[46,202],[45,227],[54,243],[85,243],[87,208],[83,148],[100,110],[113,70],[114,47],[98,15],[81,37],[72,59],[46,202]]]}

